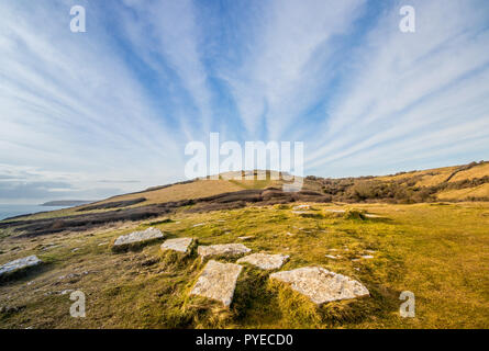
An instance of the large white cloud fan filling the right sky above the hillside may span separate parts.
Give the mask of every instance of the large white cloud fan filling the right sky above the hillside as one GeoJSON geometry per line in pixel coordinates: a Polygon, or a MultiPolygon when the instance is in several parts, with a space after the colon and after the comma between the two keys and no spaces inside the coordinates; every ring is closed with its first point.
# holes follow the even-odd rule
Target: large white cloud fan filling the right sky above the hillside
{"type": "Polygon", "coordinates": [[[374,161],[392,170],[410,160],[415,167],[433,148],[440,166],[487,155],[482,147],[464,156],[459,143],[489,138],[481,133],[489,124],[489,12],[480,11],[480,1],[413,1],[416,33],[405,34],[394,30],[400,4],[355,50],[354,69],[326,111],[309,167],[353,170],[374,161]],[[454,143],[456,156],[447,151],[454,143]]]}

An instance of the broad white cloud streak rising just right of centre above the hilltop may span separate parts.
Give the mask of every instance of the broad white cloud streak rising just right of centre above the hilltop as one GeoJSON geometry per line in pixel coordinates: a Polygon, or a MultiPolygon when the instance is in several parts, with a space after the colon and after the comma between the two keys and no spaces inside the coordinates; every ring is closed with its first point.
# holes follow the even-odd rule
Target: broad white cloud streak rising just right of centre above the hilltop
{"type": "Polygon", "coordinates": [[[260,8],[252,20],[257,30],[238,43],[245,46],[240,66],[221,72],[251,135],[279,139],[318,103],[333,78],[334,38],[352,30],[365,2],[286,0],[260,8]]]}

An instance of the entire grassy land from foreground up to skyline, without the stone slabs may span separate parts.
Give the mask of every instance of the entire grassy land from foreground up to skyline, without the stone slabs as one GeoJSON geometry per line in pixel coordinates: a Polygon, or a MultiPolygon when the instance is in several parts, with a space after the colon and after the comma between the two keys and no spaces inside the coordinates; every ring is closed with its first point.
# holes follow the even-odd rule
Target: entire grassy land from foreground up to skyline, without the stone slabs
{"type": "Polygon", "coordinates": [[[282,181],[221,177],[2,222],[0,264],[29,254],[45,264],[0,284],[0,327],[488,328],[488,165],[308,177],[294,195],[280,191],[282,181]],[[302,202],[312,210],[294,213],[302,202]],[[370,296],[318,308],[246,265],[225,309],[189,297],[203,268],[196,249],[164,253],[153,244],[111,251],[118,236],[149,226],[169,238],[289,254],[281,270],[320,265],[360,281],[370,296]],[[69,316],[74,290],[87,295],[85,319],[69,316]],[[415,294],[415,318],[399,316],[403,291],[415,294]]]}

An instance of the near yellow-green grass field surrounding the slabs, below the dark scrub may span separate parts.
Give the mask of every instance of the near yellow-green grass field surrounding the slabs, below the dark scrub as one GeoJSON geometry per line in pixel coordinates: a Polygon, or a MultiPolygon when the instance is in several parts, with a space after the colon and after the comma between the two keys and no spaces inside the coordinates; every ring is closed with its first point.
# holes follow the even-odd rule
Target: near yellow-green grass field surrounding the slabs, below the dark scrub
{"type": "Polygon", "coordinates": [[[0,314],[0,327],[489,328],[489,203],[314,204],[311,212],[302,217],[291,205],[179,211],[171,220],[81,233],[29,239],[4,233],[0,263],[37,254],[47,264],[0,286],[0,306],[15,307],[0,314]],[[327,211],[352,206],[381,218],[327,211]],[[162,253],[157,244],[125,253],[110,250],[115,237],[148,226],[202,245],[244,242],[254,252],[290,254],[282,270],[321,265],[359,280],[370,297],[315,308],[291,290],[270,285],[268,273],[246,267],[226,310],[188,296],[202,270],[195,251],[162,253]],[[240,241],[240,236],[253,238],[240,241]],[[366,252],[374,259],[359,259],[366,252]],[[86,293],[86,318],[69,316],[70,290],[86,293]],[[415,318],[399,316],[402,291],[415,294],[415,318]]]}

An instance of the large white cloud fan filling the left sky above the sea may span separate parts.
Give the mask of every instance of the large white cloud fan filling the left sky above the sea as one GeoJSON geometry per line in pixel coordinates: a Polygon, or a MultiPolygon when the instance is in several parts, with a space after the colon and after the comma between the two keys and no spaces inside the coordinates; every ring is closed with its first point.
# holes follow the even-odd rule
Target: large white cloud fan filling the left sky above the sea
{"type": "Polygon", "coordinates": [[[69,2],[0,4],[1,162],[69,172],[67,181],[90,193],[101,174],[147,185],[178,179],[159,166],[182,160],[178,134],[152,106],[103,16],[85,4],[90,32],[80,34],[69,31],[69,2]]]}

